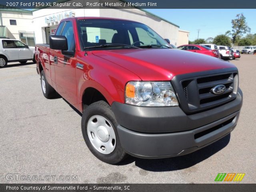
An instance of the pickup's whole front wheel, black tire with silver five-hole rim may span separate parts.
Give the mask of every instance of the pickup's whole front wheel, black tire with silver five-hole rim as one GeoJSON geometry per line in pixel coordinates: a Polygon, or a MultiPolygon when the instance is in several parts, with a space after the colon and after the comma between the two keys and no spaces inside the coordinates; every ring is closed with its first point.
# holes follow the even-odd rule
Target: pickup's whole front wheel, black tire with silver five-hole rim
{"type": "Polygon", "coordinates": [[[99,160],[116,164],[126,157],[111,107],[104,101],[90,104],[82,116],[82,134],[89,150],[99,160]]]}

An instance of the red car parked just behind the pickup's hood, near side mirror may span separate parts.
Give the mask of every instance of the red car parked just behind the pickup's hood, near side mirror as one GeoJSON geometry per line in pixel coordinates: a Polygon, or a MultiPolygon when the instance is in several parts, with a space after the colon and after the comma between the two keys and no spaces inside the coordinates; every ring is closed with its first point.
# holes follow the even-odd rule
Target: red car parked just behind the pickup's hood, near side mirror
{"type": "Polygon", "coordinates": [[[181,46],[178,46],[178,49],[196,52],[196,53],[202,53],[205,55],[220,58],[220,52],[218,50],[212,50],[211,48],[208,48],[204,45],[195,45],[195,44],[181,45],[181,46]]]}

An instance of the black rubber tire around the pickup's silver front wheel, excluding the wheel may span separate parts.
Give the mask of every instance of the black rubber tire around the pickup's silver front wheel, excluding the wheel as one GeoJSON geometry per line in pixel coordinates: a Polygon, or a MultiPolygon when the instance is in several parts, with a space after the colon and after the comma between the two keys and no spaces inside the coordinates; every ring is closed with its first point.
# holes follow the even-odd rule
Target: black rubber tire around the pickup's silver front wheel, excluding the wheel
{"type": "Polygon", "coordinates": [[[126,158],[126,156],[127,156],[126,152],[124,152],[124,150],[121,146],[120,139],[118,137],[118,132],[116,130],[117,125],[118,125],[118,123],[116,121],[116,118],[114,116],[114,113],[113,113],[111,107],[104,101],[98,101],[98,102],[90,104],[86,108],[86,110],[84,111],[83,116],[82,116],[82,122],[81,122],[82,134],[83,134],[83,137],[84,137],[87,147],[92,152],[92,154],[94,154],[94,156],[96,156],[99,160],[106,162],[108,164],[117,164],[118,162],[120,162],[124,158],[126,158]],[[111,123],[112,127],[114,128],[114,132],[116,135],[116,146],[115,146],[113,152],[111,152],[110,154],[102,154],[101,152],[99,152],[96,148],[94,148],[94,146],[92,145],[92,143],[88,137],[87,124],[88,124],[89,119],[95,115],[102,116],[102,117],[106,118],[111,123]]]}

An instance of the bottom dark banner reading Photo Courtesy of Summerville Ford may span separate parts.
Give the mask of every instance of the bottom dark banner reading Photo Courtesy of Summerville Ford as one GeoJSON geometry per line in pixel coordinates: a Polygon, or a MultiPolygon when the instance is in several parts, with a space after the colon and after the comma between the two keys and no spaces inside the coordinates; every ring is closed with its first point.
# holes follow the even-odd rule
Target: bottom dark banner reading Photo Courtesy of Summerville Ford
{"type": "Polygon", "coordinates": [[[0,192],[255,192],[256,184],[0,184],[0,192]]]}

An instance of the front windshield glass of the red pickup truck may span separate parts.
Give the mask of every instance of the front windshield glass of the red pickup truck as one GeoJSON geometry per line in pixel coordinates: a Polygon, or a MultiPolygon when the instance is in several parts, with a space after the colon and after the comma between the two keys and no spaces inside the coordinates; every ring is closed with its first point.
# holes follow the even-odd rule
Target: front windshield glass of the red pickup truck
{"type": "Polygon", "coordinates": [[[84,49],[172,48],[151,28],[132,21],[82,19],[78,32],[84,49]]]}

